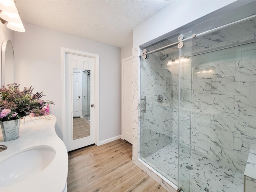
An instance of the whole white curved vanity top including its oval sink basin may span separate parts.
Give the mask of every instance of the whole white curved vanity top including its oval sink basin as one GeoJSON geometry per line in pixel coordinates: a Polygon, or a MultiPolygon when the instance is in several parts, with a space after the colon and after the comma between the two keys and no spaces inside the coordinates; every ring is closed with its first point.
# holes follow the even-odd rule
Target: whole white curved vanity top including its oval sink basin
{"type": "Polygon", "coordinates": [[[3,141],[0,152],[1,192],[66,192],[68,153],[57,136],[54,115],[25,117],[19,138],[3,141]]]}

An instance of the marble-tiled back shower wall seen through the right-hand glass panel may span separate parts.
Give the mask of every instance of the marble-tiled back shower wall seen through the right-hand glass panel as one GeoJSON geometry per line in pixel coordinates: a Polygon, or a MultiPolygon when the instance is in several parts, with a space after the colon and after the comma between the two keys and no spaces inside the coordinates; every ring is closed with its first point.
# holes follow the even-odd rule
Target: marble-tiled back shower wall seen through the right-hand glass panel
{"type": "MultiPolygon", "coordinates": [[[[248,20],[195,39],[193,52],[253,40],[255,26],[255,19],[248,20]]],[[[214,64],[212,74],[192,68],[191,148],[240,172],[256,143],[256,44],[247,47],[237,47],[232,59],[206,60],[214,64]]]]}

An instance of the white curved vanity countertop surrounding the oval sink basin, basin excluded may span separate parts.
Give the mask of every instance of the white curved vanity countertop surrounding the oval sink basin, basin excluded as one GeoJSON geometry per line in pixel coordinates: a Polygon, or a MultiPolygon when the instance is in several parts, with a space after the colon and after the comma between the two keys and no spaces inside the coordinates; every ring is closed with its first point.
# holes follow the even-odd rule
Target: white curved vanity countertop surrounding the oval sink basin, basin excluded
{"type": "MultiPolygon", "coordinates": [[[[36,146],[50,146],[56,155],[52,162],[40,173],[33,177],[17,182],[10,186],[0,187],[0,191],[19,191],[19,192],[62,192],[66,188],[68,176],[68,153],[66,146],[55,132],[56,117],[54,115],[44,116],[50,118],[44,124],[32,123],[30,117],[25,117],[20,123],[19,138],[11,141],[4,141],[0,136],[0,144],[8,148],[0,152],[0,162],[36,146]],[[30,125],[31,124],[31,125],[30,125]]],[[[39,121],[37,119],[34,122],[39,121]]]]}

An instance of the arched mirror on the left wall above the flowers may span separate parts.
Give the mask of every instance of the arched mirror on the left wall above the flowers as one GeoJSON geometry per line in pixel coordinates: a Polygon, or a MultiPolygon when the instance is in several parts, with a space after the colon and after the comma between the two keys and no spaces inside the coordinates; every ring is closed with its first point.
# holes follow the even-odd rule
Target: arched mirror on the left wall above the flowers
{"type": "Polygon", "coordinates": [[[2,86],[14,83],[14,52],[10,40],[2,44],[1,76],[2,86]]]}

